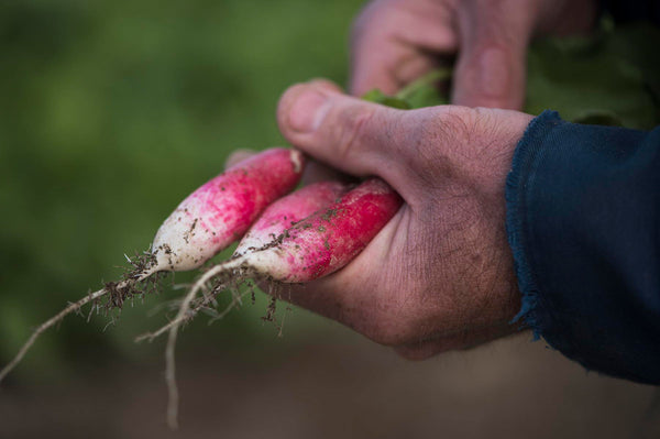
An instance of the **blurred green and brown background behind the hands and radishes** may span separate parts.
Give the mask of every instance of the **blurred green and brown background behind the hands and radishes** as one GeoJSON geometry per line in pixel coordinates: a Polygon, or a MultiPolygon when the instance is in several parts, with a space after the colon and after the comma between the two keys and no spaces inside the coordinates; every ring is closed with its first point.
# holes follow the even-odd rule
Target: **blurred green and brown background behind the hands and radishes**
{"type": "MultiPolygon", "coordinates": [[[[0,0],[0,364],[68,300],[116,279],[123,254],[145,250],[161,221],[221,172],[232,150],[280,144],[274,114],[286,87],[320,76],[345,84],[360,7],[0,0]]],[[[562,45],[537,47],[530,111],[552,107],[572,119],[610,121],[619,109],[617,120],[629,125],[657,123],[657,108],[639,91],[648,86],[644,75],[628,65],[602,74],[609,65],[602,54],[585,67],[593,47],[578,44],[578,57],[562,45]],[[558,68],[561,54],[573,64],[558,68]],[[562,94],[557,84],[571,78],[562,94]],[[620,84],[625,91],[614,95],[620,84]]],[[[177,274],[174,282],[189,279],[177,274]]],[[[0,389],[0,437],[88,437],[91,426],[102,427],[95,437],[169,435],[164,343],[135,344],[133,337],[165,322],[162,306],[180,294],[165,283],[116,326],[107,327],[106,316],[90,323],[69,317],[45,333],[0,389]]],[[[584,437],[593,428],[609,437],[637,428],[651,399],[646,386],[584,376],[526,334],[416,365],[280,305],[279,338],[260,320],[267,301],[257,295],[254,306],[210,327],[198,318],[183,332],[185,437],[430,437],[439,428],[463,431],[474,414],[473,436],[461,436],[512,437],[526,431],[513,427],[526,414],[536,437],[544,437],[539,425],[548,437],[584,437]],[[245,395],[234,407],[241,416],[232,411],[237,395],[245,395]],[[529,404],[539,397],[550,411],[529,404]],[[261,421],[245,415],[253,409],[261,421]]]]}

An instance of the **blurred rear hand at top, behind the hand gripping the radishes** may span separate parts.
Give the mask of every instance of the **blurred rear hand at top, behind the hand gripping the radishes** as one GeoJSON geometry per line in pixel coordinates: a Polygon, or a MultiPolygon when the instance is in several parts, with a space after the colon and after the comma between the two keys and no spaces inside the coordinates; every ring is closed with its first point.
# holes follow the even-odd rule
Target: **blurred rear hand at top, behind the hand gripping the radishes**
{"type": "Polygon", "coordinates": [[[595,18],[595,0],[374,0],[353,26],[350,89],[392,95],[458,52],[453,103],[520,109],[531,37],[595,18]]]}

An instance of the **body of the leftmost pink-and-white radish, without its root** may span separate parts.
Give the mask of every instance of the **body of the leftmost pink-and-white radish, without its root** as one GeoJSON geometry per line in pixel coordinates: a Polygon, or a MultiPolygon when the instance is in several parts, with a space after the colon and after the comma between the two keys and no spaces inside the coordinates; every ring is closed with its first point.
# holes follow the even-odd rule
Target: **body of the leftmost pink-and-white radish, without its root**
{"type": "Polygon", "coordinates": [[[300,152],[271,149],[209,180],[163,222],[150,272],[197,268],[241,238],[257,216],[300,180],[300,152]]]}

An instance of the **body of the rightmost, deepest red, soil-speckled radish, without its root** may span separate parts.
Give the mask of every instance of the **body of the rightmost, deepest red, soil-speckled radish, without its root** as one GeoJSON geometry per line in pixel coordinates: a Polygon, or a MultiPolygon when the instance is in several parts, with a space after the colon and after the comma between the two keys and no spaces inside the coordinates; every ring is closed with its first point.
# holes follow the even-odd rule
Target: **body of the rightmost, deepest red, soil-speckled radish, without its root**
{"type": "Polygon", "coordinates": [[[287,283],[333,273],[355,257],[402,206],[402,198],[378,178],[364,182],[341,199],[296,223],[280,242],[249,255],[248,264],[287,283]]]}

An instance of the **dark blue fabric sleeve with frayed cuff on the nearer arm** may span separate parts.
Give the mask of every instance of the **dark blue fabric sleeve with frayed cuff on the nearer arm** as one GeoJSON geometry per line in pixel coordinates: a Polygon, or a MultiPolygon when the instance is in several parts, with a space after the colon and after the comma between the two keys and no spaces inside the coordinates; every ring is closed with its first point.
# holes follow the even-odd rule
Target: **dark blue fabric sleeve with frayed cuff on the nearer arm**
{"type": "Polygon", "coordinates": [[[588,370],[660,384],[660,128],[546,111],[507,179],[517,319],[588,370]]]}

